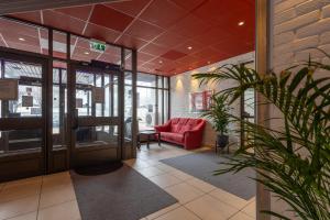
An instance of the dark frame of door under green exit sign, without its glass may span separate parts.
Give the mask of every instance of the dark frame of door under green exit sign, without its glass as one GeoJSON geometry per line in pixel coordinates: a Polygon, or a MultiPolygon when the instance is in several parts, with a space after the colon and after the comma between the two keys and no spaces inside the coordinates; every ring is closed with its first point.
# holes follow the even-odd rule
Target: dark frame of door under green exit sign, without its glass
{"type": "MultiPolygon", "coordinates": [[[[123,158],[123,77],[124,74],[122,70],[110,70],[106,68],[100,67],[92,67],[90,65],[87,65],[81,62],[70,62],[69,68],[68,68],[68,78],[67,78],[67,133],[69,134],[68,140],[68,150],[69,150],[69,161],[70,161],[70,168],[75,168],[77,166],[86,166],[90,165],[90,163],[86,162],[86,164],[81,162],[77,162],[78,154],[86,154],[86,153],[94,153],[95,155],[101,156],[102,153],[105,153],[109,147],[84,147],[84,148],[77,148],[76,147],[76,135],[75,135],[75,129],[76,127],[88,127],[88,125],[118,125],[118,147],[117,147],[117,155],[116,160],[113,161],[121,161],[123,158]],[[78,117],[76,117],[76,70],[85,70],[85,72],[91,72],[97,74],[108,74],[109,76],[117,76],[118,77],[118,116],[116,117],[100,117],[96,118],[95,116],[91,117],[84,117],[79,120],[78,117]],[[99,151],[99,152],[97,152],[99,151]]],[[[110,94],[112,97],[111,100],[113,100],[113,94],[110,94]]],[[[92,103],[92,108],[95,108],[92,103]]],[[[113,107],[113,103],[111,103],[110,108],[113,107]]],[[[113,109],[113,108],[112,108],[113,109]]],[[[113,112],[113,111],[112,111],[113,112]]],[[[108,151],[108,153],[110,153],[108,151]]],[[[95,158],[97,161],[97,158],[95,158]]],[[[102,160],[101,160],[102,161],[102,160]]]]}

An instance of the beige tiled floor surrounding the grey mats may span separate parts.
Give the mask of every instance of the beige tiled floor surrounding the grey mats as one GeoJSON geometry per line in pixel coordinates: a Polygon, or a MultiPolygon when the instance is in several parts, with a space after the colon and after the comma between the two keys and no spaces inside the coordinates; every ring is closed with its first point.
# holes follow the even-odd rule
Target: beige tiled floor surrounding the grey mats
{"type": "MultiPolygon", "coordinates": [[[[199,150],[201,151],[201,150],[199,150]]],[[[241,199],[160,162],[190,154],[162,144],[142,146],[125,163],[158,185],[178,202],[142,220],[253,220],[255,198],[241,199]]],[[[79,208],[68,172],[0,184],[0,220],[78,220],[79,208]]]]}

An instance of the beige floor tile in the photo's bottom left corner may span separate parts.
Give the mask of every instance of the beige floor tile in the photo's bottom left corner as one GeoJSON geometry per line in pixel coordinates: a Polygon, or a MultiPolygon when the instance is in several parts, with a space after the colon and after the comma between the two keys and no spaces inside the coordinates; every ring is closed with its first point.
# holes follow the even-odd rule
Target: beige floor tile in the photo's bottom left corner
{"type": "Polygon", "coordinates": [[[0,219],[9,219],[37,210],[38,196],[0,204],[0,219]]]}

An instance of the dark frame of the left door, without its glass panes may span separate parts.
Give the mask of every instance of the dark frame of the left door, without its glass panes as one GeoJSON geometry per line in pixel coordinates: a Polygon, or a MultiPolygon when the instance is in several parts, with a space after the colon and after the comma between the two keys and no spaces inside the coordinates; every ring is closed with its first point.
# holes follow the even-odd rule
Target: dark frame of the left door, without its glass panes
{"type": "MultiPolygon", "coordinates": [[[[48,109],[47,109],[47,84],[50,81],[50,62],[46,56],[35,55],[34,53],[23,53],[16,50],[0,47],[0,57],[9,61],[26,62],[31,64],[42,65],[42,117],[41,118],[7,118],[0,119],[0,128],[4,130],[24,130],[41,129],[42,130],[42,148],[41,152],[15,152],[10,155],[0,155],[0,164],[2,170],[13,170],[7,173],[6,176],[0,175],[0,182],[24,178],[35,175],[42,175],[47,172],[47,147],[48,133],[48,109]],[[20,163],[19,163],[20,162],[20,163]]],[[[1,65],[1,68],[4,68],[1,65]]],[[[4,70],[4,69],[2,69],[4,70]]],[[[0,173],[1,174],[1,173],[0,173]]]]}

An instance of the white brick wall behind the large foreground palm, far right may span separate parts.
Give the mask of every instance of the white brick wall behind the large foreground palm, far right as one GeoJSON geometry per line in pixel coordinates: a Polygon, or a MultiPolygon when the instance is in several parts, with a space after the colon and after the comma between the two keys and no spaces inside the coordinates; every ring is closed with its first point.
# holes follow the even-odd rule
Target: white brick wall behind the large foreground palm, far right
{"type": "MultiPolygon", "coordinates": [[[[330,0],[272,0],[271,26],[272,67],[275,73],[295,63],[307,61],[309,54],[318,62],[330,64],[323,54],[310,47],[322,48],[330,53],[330,0]]],[[[318,73],[317,76],[324,76],[318,73]]],[[[329,75],[329,73],[328,73],[329,75]]],[[[277,118],[278,112],[271,111],[277,118]]],[[[272,128],[283,127],[280,121],[273,121],[272,128]]],[[[287,215],[287,206],[272,198],[272,210],[287,215]]],[[[275,219],[275,218],[274,218],[275,219]]]]}

